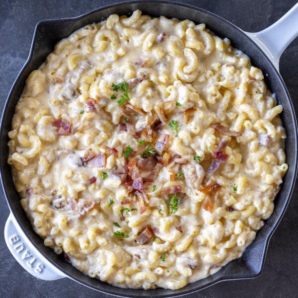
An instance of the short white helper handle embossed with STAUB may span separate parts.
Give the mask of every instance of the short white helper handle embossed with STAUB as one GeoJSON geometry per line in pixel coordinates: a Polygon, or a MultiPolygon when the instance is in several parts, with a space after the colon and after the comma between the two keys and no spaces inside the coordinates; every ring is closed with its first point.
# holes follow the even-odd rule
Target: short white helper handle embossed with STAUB
{"type": "Polygon", "coordinates": [[[31,275],[45,281],[66,277],[29,241],[10,213],[4,228],[5,242],[15,260],[31,275]]]}

